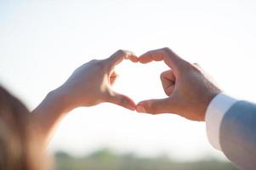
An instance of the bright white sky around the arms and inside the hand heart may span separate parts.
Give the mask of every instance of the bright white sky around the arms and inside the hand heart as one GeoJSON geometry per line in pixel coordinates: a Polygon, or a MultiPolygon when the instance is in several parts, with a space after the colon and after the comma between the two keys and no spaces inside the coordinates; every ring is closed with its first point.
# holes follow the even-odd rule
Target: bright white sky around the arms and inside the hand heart
{"type": "MultiPolygon", "coordinates": [[[[254,0],[1,0],[0,83],[32,110],[90,59],[119,48],[139,55],[169,47],[202,65],[226,93],[255,102],[255,8],[254,0]]],[[[113,88],[136,102],[165,97],[159,79],[165,70],[162,63],[125,61],[113,88]]],[[[111,104],[71,111],[49,150],[80,155],[102,147],[180,161],[224,157],[208,144],[202,122],[111,104]]]]}

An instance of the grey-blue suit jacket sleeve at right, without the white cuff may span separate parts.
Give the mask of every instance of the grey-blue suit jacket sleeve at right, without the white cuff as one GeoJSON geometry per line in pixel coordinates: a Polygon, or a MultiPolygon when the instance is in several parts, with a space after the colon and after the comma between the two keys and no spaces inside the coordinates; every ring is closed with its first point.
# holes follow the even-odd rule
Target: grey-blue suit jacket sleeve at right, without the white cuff
{"type": "Polygon", "coordinates": [[[225,113],[219,129],[225,156],[241,169],[254,170],[256,166],[255,113],[255,104],[238,101],[225,113]]]}

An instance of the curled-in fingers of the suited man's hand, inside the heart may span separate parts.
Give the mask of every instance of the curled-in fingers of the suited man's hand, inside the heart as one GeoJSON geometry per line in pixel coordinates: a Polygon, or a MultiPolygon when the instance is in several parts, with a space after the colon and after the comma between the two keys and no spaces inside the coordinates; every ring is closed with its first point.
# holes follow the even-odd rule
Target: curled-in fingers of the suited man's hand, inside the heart
{"type": "Polygon", "coordinates": [[[175,88],[175,77],[172,70],[162,72],[161,76],[162,88],[168,96],[173,94],[175,88]]]}

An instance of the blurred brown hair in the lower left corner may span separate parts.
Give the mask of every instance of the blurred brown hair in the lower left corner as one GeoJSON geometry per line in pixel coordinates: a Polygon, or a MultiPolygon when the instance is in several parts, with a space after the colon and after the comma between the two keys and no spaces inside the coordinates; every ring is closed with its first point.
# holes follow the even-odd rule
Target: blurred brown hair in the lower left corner
{"type": "Polygon", "coordinates": [[[40,167],[38,156],[42,152],[33,150],[37,141],[31,138],[29,131],[30,114],[19,99],[0,86],[0,170],[32,170],[40,167]]]}

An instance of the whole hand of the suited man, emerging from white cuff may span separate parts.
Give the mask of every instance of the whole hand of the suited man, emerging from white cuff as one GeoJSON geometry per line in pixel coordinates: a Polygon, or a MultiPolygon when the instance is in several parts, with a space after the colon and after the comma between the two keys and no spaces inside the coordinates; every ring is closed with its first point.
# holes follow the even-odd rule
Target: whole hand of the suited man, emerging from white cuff
{"type": "Polygon", "coordinates": [[[194,121],[204,121],[210,101],[221,92],[198,65],[179,58],[169,48],[149,51],[139,57],[140,63],[163,60],[170,70],[162,72],[166,99],[139,102],[136,110],[151,114],[175,113],[194,121]]]}

